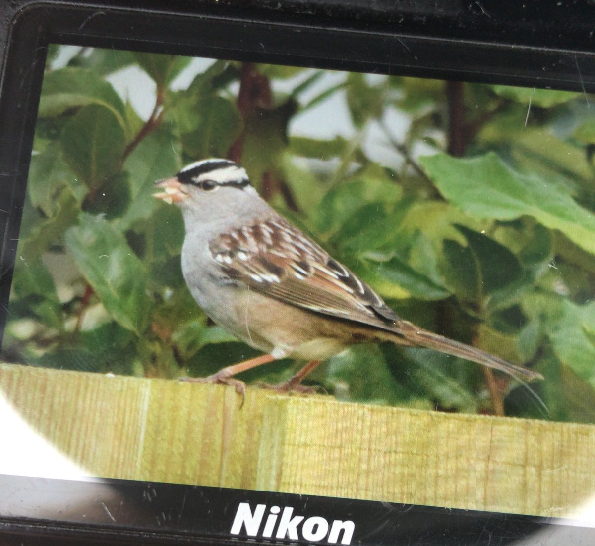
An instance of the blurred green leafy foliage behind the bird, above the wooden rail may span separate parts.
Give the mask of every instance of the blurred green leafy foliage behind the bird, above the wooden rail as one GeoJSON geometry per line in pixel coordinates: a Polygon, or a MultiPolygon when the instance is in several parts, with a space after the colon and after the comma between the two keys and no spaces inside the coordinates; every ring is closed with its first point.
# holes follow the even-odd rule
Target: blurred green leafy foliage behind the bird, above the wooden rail
{"type": "Polygon", "coordinates": [[[190,296],[180,212],[152,197],[156,179],[221,156],[403,318],[546,377],[532,392],[383,345],[310,382],[343,400],[595,422],[593,98],[225,61],[180,85],[190,58],[69,51],[49,51],[4,360],[176,378],[254,356],[190,296]],[[143,116],[110,83],[131,67],[143,116]],[[296,129],[325,111],[349,130],[296,129]]]}

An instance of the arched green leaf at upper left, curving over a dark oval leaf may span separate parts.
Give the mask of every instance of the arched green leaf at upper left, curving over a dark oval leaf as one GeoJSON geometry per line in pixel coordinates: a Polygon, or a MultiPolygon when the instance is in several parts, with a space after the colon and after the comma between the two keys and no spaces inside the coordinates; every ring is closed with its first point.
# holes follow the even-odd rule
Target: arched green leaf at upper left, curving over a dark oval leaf
{"type": "Polygon", "coordinates": [[[40,118],[55,117],[92,104],[107,108],[121,127],[125,127],[124,103],[110,83],[93,70],[62,68],[43,78],[37,115],[40,118]]]}

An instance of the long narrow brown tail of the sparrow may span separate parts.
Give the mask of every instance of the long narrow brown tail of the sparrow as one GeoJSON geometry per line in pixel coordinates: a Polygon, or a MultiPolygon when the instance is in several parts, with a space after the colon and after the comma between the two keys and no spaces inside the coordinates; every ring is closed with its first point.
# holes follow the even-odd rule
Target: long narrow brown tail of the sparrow
{"type": "MultiPolygon", "coordinates": [[[[433,332],[415,326],[415,324],[411,324],[411,322],[399,321],[396,332],[397,335],[399,335],[399,338],[403,336],[404,339],[411,341],[411,346],[434,349],[441,353],[459,356],[466,360],[471,360],[472,362],[487,366],[488,368],[505,372],[505,374],[511,375],[516,379],[525,379],[525,381],[543,379],[543,375],[538,372],[511,364],[494,354],[477,349],[477,347],[471,347],[465,343],[459,343],[459,341],[450,340],[449,338],[434,334],[433,332]]],[[[395,343],[399,343],[399,341],[395,340],[395,343]]],[[[410,343],[406,344],[410,345],[410,343]]]]}

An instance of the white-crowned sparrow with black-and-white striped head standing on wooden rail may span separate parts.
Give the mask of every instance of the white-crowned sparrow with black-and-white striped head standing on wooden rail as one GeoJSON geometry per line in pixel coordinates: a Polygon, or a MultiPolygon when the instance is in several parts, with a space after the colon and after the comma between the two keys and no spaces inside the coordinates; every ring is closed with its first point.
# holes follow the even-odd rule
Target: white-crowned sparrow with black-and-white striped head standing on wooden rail
{"type": "Polygon", "coordinates": [[[476,347],[405,321],[349,269],[275,212],[227,159],[206,159],[159,180],[155,196],[180,207],[181,253],[192,296],[217,324],[266,354],[199,378],[231,384],[233,375],[284,357],[311,361],[287,383],[347,347],[392,341],[480,363],[516,378],[541,378],[476,347]]]}

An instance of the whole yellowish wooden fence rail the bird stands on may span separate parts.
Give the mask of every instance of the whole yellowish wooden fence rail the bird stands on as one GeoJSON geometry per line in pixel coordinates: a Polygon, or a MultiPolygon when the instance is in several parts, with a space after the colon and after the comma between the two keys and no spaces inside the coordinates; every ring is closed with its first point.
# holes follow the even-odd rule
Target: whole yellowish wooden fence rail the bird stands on
{"type": "MultiPolygon", "coordinates": [[[[0,393],[89,475],[561,516],[595,426],[0,364],[0,393]]],[[[1,472],[1,469],[0,469],[1,472]]]]}

